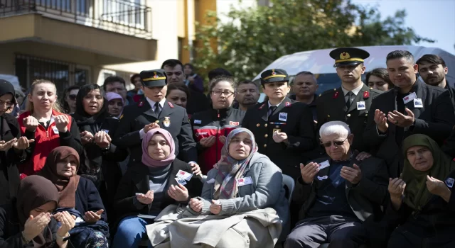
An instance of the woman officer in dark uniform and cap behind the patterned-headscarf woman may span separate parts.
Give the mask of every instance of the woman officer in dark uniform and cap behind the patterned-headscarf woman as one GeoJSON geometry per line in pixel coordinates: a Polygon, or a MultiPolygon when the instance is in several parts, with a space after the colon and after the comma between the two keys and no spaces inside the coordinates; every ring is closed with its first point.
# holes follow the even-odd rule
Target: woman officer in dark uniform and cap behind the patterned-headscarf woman
{"type": "MultiPolygon", "coordinates": [[[[259,152],[296,179],[300,174],[301,153],[315,145],[311,110],[304,103],[287,98],[289,77],[283,69],[269,69],[261,74],[261,84],[268,101],[249,108],[242,127],[255,134],[259,152]]],[[[309,159],[309,158],[308,158],[309,159]]]]}

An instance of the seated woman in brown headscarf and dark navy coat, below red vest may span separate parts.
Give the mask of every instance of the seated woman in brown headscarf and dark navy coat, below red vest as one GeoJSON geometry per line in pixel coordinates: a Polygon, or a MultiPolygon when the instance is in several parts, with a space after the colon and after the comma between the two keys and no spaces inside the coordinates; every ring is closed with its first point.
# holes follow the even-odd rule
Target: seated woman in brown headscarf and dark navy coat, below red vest
{"type": "Polygon", "coordinates": [[[68,211],[76,225],[70,231],[74,247],[107,247],[109,227],[100,193],[90,179],[77,175],[79,154],[71,147],[50,152],[38,174],[52,181],[60,194],[57,213],[68,211]]]}

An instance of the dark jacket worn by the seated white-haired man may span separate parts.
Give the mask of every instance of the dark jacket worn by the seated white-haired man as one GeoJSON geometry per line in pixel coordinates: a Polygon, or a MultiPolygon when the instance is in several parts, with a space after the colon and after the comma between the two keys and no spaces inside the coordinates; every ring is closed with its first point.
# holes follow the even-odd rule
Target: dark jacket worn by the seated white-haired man
{"type": "MultiPolygon", "coordinates": [[[[316,163],[321,163],[328,160],[331,163],[330,157],[322,157],[314,160],[316,163]]],[[[389,183],[389,175],[387,173],[387,166],[382,159],[369,157],[363,161],[357,161],[355,158],[351,160],[349,167],[357,164],[362,171],[362,179],[360,182],[353,186],[348,180],[345,182],[346,198],[350,208],[361,221],[365,221],[371,215],[382,215],[381,205],[387,202],[387,186],[389,183]]],[[[303,179],[299,177],[296,181],[294,189],[293,200],[296,203],[303,203],[299,219],[306,217],[308,210],[314,205],[316,201],[316,191],[319,190],[321,183],[320,179],[328,176],[330,166],[321,169],[319,173],[314,176],[312,184],[305,184],[303,179]],[[319,177],[318,177],[319,176],[319,177]]],[[[330,180],[329,178],[323,180],[330,180]]]]}

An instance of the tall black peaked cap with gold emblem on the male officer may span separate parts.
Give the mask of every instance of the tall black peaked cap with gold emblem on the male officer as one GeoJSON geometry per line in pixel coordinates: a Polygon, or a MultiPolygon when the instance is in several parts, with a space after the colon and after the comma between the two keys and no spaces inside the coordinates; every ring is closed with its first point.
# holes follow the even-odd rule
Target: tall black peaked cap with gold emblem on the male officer
{"type": "Polygon", "coordinates": [[[341,65],[363,63],[363,60],[370,57],[370,53],[356,47],[340,47],[336,48],[336,50],[332,50],[330,52],[330,57],[335,60],[333,67],[339,67],[341,65]]]}

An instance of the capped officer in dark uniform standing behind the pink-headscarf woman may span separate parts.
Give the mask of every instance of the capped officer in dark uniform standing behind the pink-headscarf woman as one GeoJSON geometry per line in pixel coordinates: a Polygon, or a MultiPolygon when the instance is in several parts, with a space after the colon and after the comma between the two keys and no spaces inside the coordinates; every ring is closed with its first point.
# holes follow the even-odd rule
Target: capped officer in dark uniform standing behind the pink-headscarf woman
{"type": "Polygon", "coordinates": [[[152,128],[164,128],[172,134],[176,143],[176,156],[185,162],[196,162],[198,153],[193,140],[191,124],[185,108],[173,105],[165,98],[166,74],[162,69],[140,73],[146,98],[132,106],[126,106],[120,117],[114,144],[129,148],[130,162],[141,161],[141,142],[152,128]]]}

